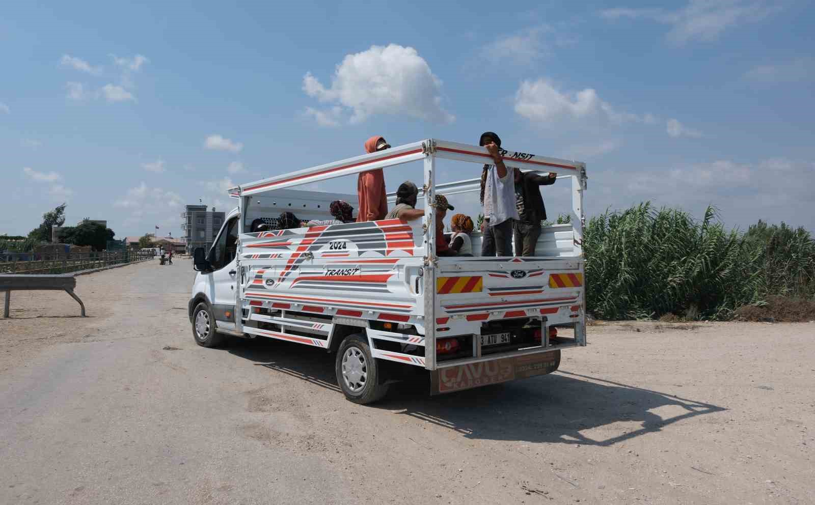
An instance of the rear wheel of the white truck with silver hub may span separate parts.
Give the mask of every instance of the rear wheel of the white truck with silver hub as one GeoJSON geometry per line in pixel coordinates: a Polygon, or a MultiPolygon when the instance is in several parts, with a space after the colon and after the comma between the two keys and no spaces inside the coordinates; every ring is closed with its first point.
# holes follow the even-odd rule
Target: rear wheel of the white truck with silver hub
{"type": "Polygon", "coordinates": [[[368,339],[359,333],[342,340],[335,370],[337,384],[351,402],[365,405],[380,400],[388,392],[388,385],[380,384],[381,367],[371,356],[368,339]]]}

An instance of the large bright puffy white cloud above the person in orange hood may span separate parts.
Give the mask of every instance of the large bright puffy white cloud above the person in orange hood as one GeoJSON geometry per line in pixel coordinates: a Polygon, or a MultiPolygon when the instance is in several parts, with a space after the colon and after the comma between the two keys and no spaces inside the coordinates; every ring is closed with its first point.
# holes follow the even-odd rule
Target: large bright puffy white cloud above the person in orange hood
{"type": "Polygon", "coordinates": [[[302,89],[321,103],[350,109],[352,123],[377,114],[434,123],[456,120],[442,108],[442,81],[412,47],[371,46],[368,51],[346,55],[337,65],[330,87],[308,72],[302,89]]]}

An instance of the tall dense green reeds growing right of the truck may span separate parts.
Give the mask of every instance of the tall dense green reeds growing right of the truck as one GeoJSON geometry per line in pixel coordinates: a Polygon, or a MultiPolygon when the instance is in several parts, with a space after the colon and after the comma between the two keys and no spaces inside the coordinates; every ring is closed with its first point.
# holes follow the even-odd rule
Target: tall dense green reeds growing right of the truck
{"type": "Polygon", "coordinates": [[[725,229],[644,203],[593,217],[584,230],[589,312],[603,319],[728,318],[782,295],[815,297],[815,242],[785,224],[725,229]]]}

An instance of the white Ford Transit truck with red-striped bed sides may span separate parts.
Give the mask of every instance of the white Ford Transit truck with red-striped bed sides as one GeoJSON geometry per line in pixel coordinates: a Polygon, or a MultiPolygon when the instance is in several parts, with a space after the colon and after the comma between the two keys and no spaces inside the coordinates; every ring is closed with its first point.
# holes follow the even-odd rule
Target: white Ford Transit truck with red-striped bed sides
{"type": "MultiPolygon", "coordinates": [[[[356,195],[287,188],[371,169],[401,165],[405,173],[404,164],[423,162],[426,202],[437,191],[478,191],[477,179],[436,186],[435,167],[438,159],[482,165],[491,159],[483,147],[431,138],[230,189],[237,208],[209,252],[194,252],[189,317],[196,343],[264,336],[325,349],[336,354],[337,383],[356,403],[385,395],[392,363],[430,371],[431,394],[556,371],[562,349],[586,345],[585,165],[501,155],[508,166],[571,181],[571,223],[543,228],[540,256],[438,257],[436,235],[427,232],[435,230],[432,205],[412,222],[250,232],[258,219],[273,224],[281,210],[330,219],[332,200],[355,204],[356,195]]],[[[480,233],[472,237],[478,254],[480,233]]]]}

